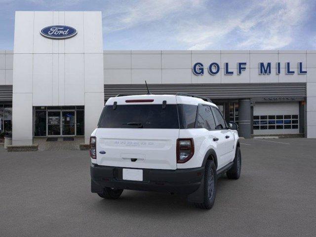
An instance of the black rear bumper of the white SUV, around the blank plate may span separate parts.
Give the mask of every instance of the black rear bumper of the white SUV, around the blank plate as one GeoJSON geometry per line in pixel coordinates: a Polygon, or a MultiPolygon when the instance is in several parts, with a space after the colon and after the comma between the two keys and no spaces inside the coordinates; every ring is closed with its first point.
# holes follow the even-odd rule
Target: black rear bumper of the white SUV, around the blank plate
{"type": "Polygon", "coordinates": [[[105,187],[139,191],[191,194],[200,186],[204,167],[192,169],[143,169],[143,181],[122,179],[122,167],[91,163],[91,192],[102,193],[105,187]]]}

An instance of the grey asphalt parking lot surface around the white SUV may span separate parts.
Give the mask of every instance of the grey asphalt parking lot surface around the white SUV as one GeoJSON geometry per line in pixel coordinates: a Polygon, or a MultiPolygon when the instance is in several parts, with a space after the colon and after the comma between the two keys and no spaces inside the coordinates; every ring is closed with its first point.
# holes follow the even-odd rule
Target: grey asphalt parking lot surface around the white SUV
{"type": "Polygon", "coordinates": [[[0,147],[0,236],[316,236],[316,139],[242,139],[238,180],[219,179],[211,210],[186,197],[90,193],[86,151],[0,147]]]}

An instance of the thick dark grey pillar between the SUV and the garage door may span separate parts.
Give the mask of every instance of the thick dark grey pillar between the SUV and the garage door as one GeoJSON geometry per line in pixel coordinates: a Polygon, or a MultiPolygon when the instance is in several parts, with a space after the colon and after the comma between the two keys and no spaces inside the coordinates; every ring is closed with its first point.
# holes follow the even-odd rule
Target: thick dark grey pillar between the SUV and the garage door
{"type": "Polygon", "coordinates": [[[250,99],[239,100],[239,136],[251,138],[251,109],[250,99]]]}

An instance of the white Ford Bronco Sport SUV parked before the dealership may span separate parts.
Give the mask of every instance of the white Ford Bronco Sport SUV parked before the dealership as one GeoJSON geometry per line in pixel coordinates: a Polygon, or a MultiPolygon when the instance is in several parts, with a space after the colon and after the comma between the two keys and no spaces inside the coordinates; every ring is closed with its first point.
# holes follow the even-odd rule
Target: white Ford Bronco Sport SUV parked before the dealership
{"type": "Polygon", "coordinates": [[[91,192],[108,199],[124,189],[187,194],[209,209],[216,180],[238,179],[237,124],[209,99],[191,94],[112,97],[90,138],[91,192]]]}

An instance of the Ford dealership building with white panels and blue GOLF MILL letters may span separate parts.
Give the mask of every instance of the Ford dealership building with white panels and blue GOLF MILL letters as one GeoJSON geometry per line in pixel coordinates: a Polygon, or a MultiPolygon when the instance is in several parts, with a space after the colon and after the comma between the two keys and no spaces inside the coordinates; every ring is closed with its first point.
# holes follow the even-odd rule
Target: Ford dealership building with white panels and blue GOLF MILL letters
{"type": "MultiPolygon", "coordinates": [[[[89,136],[117,94],[210,98],[245,138],[316,138],[316,50],[103,50],[101,12],[17,11],[0,50],[0,129],[13,145],[89,136]]],[[[106,45],[105,45],[106,47],[106,45]]]]}

